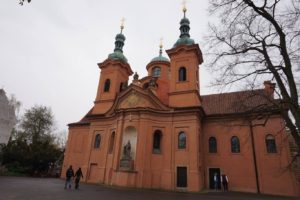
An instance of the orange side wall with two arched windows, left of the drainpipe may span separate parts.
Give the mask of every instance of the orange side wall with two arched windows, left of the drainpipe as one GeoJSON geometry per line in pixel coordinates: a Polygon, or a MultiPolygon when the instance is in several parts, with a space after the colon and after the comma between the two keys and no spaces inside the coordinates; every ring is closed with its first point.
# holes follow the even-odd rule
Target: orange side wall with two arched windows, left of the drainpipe
{"type": "Polygon", "coordinates": [[[209,188],[209,168],[220,168],[229,179],[229,190],[256,192],[255,169],[252,156],[250,130],[241,126],[240,120],[205,121],[204,152],[206,162],[206,187],[209,188]],[[231,137],[240,141],[240,153],[231,152],[231,137]],[[217,153],[209,153],[210,137],[217,140],[217,153]]]}

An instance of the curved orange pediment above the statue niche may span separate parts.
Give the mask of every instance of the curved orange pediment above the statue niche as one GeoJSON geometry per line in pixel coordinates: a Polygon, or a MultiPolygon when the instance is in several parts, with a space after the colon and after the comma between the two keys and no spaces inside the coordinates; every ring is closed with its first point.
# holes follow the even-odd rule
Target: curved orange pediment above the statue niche
{"type": "Polygon", "coordinates": [[[124,93],[120,94],[107,114],[126,109],[170,110],[151,90],[144,90],[135,86],[131,86],[124,93]]]}

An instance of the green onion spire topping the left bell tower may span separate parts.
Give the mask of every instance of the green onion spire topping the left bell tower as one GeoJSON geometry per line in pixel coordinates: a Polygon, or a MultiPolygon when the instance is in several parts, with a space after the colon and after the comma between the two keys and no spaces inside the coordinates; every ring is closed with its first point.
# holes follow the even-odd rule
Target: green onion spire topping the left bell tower
{"type": "Polygon", "coordinates": [[[127,58],[123,55],[123,46],[125,41],[125,36],[123,35],[123,29],[124,29],[124,21],[125,19],[121,19],[121,26],[120,26],[120,33],[116,35],[116,41],[115,41],[115,49],[114,53],[111,53],[108,55],[108,58],[111,58],[113,60],[120,60],[125,63],[127,63],[127,58]]]}

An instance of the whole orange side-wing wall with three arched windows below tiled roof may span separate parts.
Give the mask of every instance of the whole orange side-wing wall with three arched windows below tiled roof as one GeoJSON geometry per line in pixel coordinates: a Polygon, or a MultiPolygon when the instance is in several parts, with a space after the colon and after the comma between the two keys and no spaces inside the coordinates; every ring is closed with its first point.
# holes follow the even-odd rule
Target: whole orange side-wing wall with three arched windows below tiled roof
{"type": "MultiPolygon", "coordinates": [[[[254,122],[253,125],[261,122],[254,122]]],[[[265,127],[253,127],[260,192],[295,196],[299,186],[286,168],[289,163],[288,145],[282,130],[284,124],[280,118],[269,119],[265,127]],[[267,153],[267,134],[276,135],[278,152],[275,154],[267,153]]],[[[241,120],[205,121],[203,132],[206,187],[209,188],[209,168],[220,168],[221,173],[225,173],[229,178],[229,190],[257,192],[249,125],[241,120]],[[232,136],[237,136],[240,140],[240,153],[231,152],[232,136]],[[208,152],[209,137],[217,139],[217,153],[208,152]]]]}

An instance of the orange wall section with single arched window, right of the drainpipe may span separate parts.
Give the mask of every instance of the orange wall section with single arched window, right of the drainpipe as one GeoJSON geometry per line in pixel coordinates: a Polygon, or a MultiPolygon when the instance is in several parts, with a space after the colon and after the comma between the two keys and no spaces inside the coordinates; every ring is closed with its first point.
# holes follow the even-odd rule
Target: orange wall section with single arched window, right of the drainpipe
{"type": "Polygon", "coordinates": [[[257,164],[261,192],[276,195],[299,195],[300,185],[288,167],[291,157],[284,121],[280,117],[274,116],[267,121],[265,127],[257,126],[253,131],[258,152],[257,164]],[[267,152],[265,138],[268,134],[275,137],[276,153],[267,152]]]}

